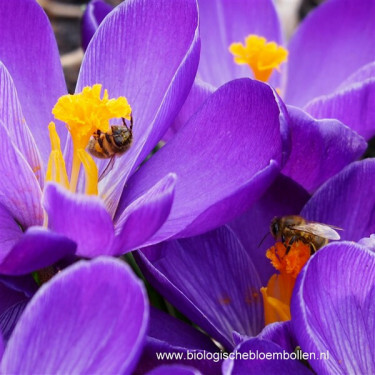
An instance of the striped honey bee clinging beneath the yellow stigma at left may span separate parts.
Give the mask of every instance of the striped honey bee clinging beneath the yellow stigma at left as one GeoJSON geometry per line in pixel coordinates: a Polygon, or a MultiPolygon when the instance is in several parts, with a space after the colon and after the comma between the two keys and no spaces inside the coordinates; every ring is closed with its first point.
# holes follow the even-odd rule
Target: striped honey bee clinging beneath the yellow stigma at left
{"type": "Polygon", "coordinates": [[[122,119],[123,125],[112,125],[109,132],[97,130],[90,138],[87,150],[100,159],[113,158],[129,150],[133,141],[133,116],[130,126],[122,119]]]}

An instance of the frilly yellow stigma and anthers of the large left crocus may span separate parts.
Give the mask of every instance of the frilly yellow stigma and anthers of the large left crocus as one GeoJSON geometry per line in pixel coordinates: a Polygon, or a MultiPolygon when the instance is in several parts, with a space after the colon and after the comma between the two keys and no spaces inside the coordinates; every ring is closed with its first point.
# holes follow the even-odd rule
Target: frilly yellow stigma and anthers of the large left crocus
{"type": "Polygon", "coordinates": [[[103,98],[101,98],[101,90],[100,84],[84,87],[80,93],[60,97],[52,109],[56,119],[66,123],[71,135],[73,160],[69,180],[60,139],[55,124],[51,122],[48,128],[52,151],[48,161],[46,180],[57,182],[72,192],[77,189],[82,164],[86,178],[86,194],[98,194],[98,168],[94,159],[86,151],[90,138],[97,132],[108,133],[111,130],[109,121],[113,118],[131,120],[132,110],[126,98],[109,99],[107,90],[104,90],[103,98]]]}

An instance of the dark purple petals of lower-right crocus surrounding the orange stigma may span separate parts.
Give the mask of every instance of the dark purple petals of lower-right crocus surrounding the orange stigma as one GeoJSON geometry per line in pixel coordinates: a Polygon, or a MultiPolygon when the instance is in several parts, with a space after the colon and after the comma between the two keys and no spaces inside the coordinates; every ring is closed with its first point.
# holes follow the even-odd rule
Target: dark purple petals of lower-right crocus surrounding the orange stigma
{"type": "MultiPolygon", "coordinates": [[[[341,351],[344,349],[340,349],[339,343],[346,335],[345,332],[352,332],[353,340],[357,340],[357,346],[363,350],[363,356],[357,356],[356,358],[360,358],[353,359],[353,361],[360,363],[362,358],[372,358],[374,353],[371,347],[365,349],[361,344],[362,340],[367,340],[366,336],[363,336],[363,332],[366,331],[362,329],[363,325],[356,328],[357,320],[362,319],[363,315],[354,318],[350,309],[355,310],[356,306],[360,304],[362,314],[365,316],[372,311],[372,307],[369,305],[371,298],[368,298],[371,286],[363,289],[363,294],[361,294],[361,288],[349,287],[349,280],[352,280],[359,271],[356,268],[352,271],[349,265],[344,266],[344,264],[349,262],[357,264],[356,257],[358,255],[354,253],[359,251],[360,245],[355,245],[354,242],[375,232],[375,219],[372,215],[375,191],[371,182],[374,173],[374,159],[352,163],[324,183],[311,198],[295,182],[280,176],[250,210],[231,222],[229,226],[194,238],[163,242],[140,250],[137,254],[138,263],[147,279],[162,295],[227,350],[233,350],[240,344],[242,346],[238,350],[243,351],[248,351],[251,348],[254,351],[258,349],[265,352],[285,349],[290,353],[299,345],[303,351],[340,352],[341,354],[337,354],[335,357],[340,359],[340,356],[343,356],[341,351]],[[259,242],[269,230],[272,217],[298,212],[309,220],[330,223],[344,228],[341,233],[344,242],[332,243],[324,250],[319,250],[311,258],[307,267],[303,269],[293,292],[292,323],[291,325],[289,323],[281,325],[285,327],[283,328],[285,332],[281,331],[277,335],[276,333],[271,335],[273,331],[270,331],[272,328],[270,326],[271,328],[267,327],[268,329],[261,333],[264,327],[264,311],[259,289],[266,285],[275,270],[265,258],[264,251],[272,245],[272,238],[266,239],[260,248],[259,242]],[[367,220],[363,220],[364,217],[367,220]],[[346,254],[345,249],[351,247],[355,248],[353,254],[346,254]],[[320,261],[320,258],[327,260],[320,261]],[[328,261],[328,259],[330,260],[328,261]],[[346,260],[341,261],[340,259],[346,260]],[[332,267],[336,270],[334,275],[339,272],[338,262],[342,264],[342,274],[331,278],[329,285],[325,286],[332,273],[330,271],[332,267]],[[312,265],[314,265],[314,271],[310,271],[312,265]],[[320,267],[324,268],[322,275],[320,275],[320,267]],[[310,273],[312,275],[309,276],[308,280],[310,281],[303,283],[302,280],[307,280],[304,275],[310,273]],[[340,280],[342,281],[340,282],[340,280]],[[320,289],[317,291],[316,285],[322,291],[324,289],[324,293],[321,293],[320,289]],[[301,292],[302,288],[305,288],[303,292],[301,292]],[[357,291],[353,294],[355,289],[357,291]],[[305,290],[306,293],[313,293],[315,297],[303,294],[305,290]],[[318,297],[320,293],[321,296],[318,297]],[[359,295],[361,297],[355,297],[359,295]],[[347,296],[351,306],[348,308],[349,310],[342,308],[340,311],[339,319],[340,321],[341,319],[345,320],[347,325],[342,334],[337,328],[340,323],[334,317],[335,308],[329,308],[327,312],[327,314],[331,314],[329,316],[324,312],[325,304],[330,306],[332,298],[336,299],[335,303],[341,303],[340,296],[347,296]],[[324,300],[324,298],[326,299],[324,300]],[[356,302],[357,298],[359,298],[359,302],[356,302]],[[306,312],[309,315],[315,314],[316,323],[309,323],[306,312]],[[352,319],[354,319],[353,324],[349,325],[352,319]],[[315,338],[313,334],[315,328],[310,328],[309,324],[316,324],[318,332],[325,332],[324,327],[328,325],[336,328],[331,329],[331,338],[322,343],[321,337],[315,338]],[[319,325],[321,328],[318,329],[319,325]],[[288,347],[285,343],[280,344],[280,336],[285,336],[283,340],[289,343],[288,347]],[[250,337],[252,339],[249,341],[250,337]],[[279,337],[280,342],[275,337],[279,337]],[[311,337],[313,337],[312,343],[308,344],[311,337]],[[270,341],[274,342],[269,344],[270,341]],[[314,342],[317,344],[313,344],[314,342]],[[319,348],[314,347],[312,350],[311,345],[318,345],[319,348]]],[[[369,241],[367,240],[367,242],[369,241]]],[[[366,251],[366,254],[369,252],[366,251]]],[[[368,257],[368,255],[364,256],[368,257]]],[[[361,256],[359,258],[362,259],[361,256]]],[[[358,261],[358,267],[359,264],[360,261],[358,261]]],[[[369,266],[366,268],[363,280],[366,278],[372,280],[372,274],[373,269],[369,266]]],[[[371,324],[371,319],[368,324],[371,324]]],[[[350,344],[345,344],[342,347],[349,348],[350,344]]],[[[349,363],[350,358],[352,357],[348,357],[347,362],[344,363],[349,363]]],[[[268,361],[264,362],[263,365],[267,366],[268,361]]],[[[300,367],[301,371],[305,371],[300,363],[296,361],[291,361],[291,363],[290,371],[293,366],[296,366],[296,369],[300,367]]],[[[254,373],[257,368],[261,368],[256,366],[263,365],[259,363],[254,365],[254,373]]],[[[271,366],[271,364],[269,365],[271,366]]],[[[288,363],[284,365],[289,366],[288,363]]],[[[319,366],[331,366],[330,364],[320,364],[315,368],[314,364],[311,365],[318,372],[322,368],[319,366]]],[[[229,366],[229,364],[225,366],[229,366]]],[[[240,366],[240,363],[234,365],[233,368],[236,369],[236,366],[240,366]]],[[[252,361],[245,361],[244,366],[250,368],[252,361]]],[[[273,364],[273,366],[277,366],[277,364],[273,364]]],[[[345,366],[349,365],[345,364],[345,366]]],[[[264,369],[266,370],[266,367],[264,369]]],[[[270,369],[271,367],[269,371],[270,369]]],[[[241,372],[238,370],[233,373],[240,374],[241,372]]],[[[344,370],[343,373],[345,373],[344,370]]]]}

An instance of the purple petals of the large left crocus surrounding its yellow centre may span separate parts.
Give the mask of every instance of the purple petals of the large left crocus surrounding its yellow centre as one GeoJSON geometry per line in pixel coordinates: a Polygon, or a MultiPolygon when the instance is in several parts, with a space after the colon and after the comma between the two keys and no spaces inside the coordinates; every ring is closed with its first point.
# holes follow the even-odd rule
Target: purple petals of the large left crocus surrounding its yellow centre
{"type": "MultiPolygon", "coordinates": [[[[250,207],[284,164],[285,108],[267,85],[249,79],[218,90],[178,137],[141,164],[188,95],[199,38],[195,1],[157,0],[146,6],[145,0],[136,0],[103,21],[87,48],[77,84],[77,93],[95,92],[96,100],[96,84],[110,98],[127,97],[133,145],[99,183],[98,196],[84,194],[86,170],[86,176],[77,174],[76,184],[70,181],[76,185],[73,193],[55,183],[64,178],[57,177],[62,156],[51,130],[55,172],[47,173],[53,181],[46,183],[47,125],[58,98],[66,94],[55,40],[32,0],[1,2],[0,24],[0,95],[6,103],[0,132],[7,155],[0,161],[3,274],[26,274],[67,255],[119,255],[205,232],[250,207]],[[36,30],[35,25],[33,35],[28,30],[36,30]]],[[[56,129],[62,145],[66,140],[69,172],[75,151],[64,124],[57,122],[56,129]]],[[[106,163],[97,165],[100,174],[106,163]]]]}

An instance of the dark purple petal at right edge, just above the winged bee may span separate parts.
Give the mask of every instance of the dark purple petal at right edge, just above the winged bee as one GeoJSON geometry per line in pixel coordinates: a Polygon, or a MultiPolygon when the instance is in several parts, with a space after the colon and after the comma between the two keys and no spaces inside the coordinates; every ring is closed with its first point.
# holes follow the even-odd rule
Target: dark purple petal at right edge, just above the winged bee
{"type": "Polygon", "coordinates": [[[375,159],[350,164],[328,180],[303,208],[306,219],[342,228],[342,239],[358,241],[375,233],[375,159]]]}

